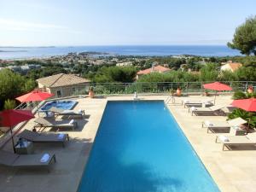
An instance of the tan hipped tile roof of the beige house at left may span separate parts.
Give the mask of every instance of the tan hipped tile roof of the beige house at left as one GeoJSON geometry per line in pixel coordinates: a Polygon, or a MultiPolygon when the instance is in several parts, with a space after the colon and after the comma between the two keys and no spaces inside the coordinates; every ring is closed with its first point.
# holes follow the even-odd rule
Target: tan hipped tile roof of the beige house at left
{"type": "Polygon", "coordinates": [[[39,84],[46,87],[61,87],[71,84],[84,84],[90,82],[88,79],[80,78],[74,74],[59,73],[46,78],[37,79],[39,84]]]}

